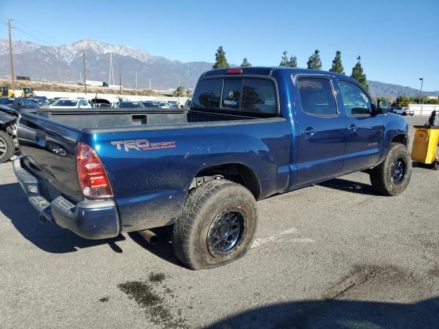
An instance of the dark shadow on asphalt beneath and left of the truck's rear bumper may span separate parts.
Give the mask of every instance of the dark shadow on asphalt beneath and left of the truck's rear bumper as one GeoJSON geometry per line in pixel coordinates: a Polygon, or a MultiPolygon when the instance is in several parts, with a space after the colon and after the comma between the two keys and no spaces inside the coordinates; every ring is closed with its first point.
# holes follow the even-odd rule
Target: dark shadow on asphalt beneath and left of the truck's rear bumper
{"type": "Polygon", "coordinates": [[[126,239],[119,234],[112,239],[87,240],[55,224],[41,224],[38,220],[38,212],[27,202],[27,197],[18,183],[0,186],[0,211],[10,219],[12,225],[25,239],[45,252],[63,254],[108,244],[112,250],[121,253],[122,249],[116,245],[116,242],[126,239]]]}

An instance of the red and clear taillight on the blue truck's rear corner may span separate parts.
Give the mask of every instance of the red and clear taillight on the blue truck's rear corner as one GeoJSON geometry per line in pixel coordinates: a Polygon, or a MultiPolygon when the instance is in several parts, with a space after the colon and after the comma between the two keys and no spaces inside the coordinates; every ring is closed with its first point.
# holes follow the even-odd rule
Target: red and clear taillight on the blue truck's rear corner
{"type": "Polygon", "coordinates": [[[84,197],[91,199],[112,197],[110,181],[101,160],[95,151],[84,143],[78,145],[76,169],[84,197]]]}

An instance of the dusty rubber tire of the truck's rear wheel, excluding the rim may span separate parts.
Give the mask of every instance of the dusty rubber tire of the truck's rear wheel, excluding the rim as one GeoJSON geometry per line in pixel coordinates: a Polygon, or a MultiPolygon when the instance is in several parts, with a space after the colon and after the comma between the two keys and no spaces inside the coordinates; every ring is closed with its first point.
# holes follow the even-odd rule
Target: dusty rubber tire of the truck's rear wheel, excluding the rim
{"type": "Polygon", "coordinates": [[[177,258],[190,269],[209,269],[244,256],[256,230],[257,208],[252,193],[229,180],[211,180],[189,192],[182,215],[174,224],[172,246],[177,258]],[[232,208],[243,216],[240,238],[229,252],[213,256],[208,247],[209,228],[222,212],[232,208]]]}

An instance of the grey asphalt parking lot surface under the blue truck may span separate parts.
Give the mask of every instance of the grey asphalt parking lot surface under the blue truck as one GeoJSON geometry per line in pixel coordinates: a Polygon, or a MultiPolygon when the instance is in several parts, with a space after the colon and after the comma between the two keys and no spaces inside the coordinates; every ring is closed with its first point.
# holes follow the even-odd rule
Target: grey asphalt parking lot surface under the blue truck
{"type": "Polygon", "coordinates": [[[258,210],[246,257],[191,271],[166,228],[149,245],[40,224],[0,164],[0,328],[439,328],[439,171],[414,165],[398,197],[354,173],[258,210]]]}

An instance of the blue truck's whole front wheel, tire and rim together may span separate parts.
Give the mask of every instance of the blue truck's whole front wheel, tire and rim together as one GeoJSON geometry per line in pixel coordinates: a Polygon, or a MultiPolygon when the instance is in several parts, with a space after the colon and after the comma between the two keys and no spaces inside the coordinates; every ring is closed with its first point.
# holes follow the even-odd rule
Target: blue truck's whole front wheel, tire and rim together
{"type": "Polygon", "coordinates": [[[375,192],[381,195],[399,195],[405,191],[412,176],[412,160],[403,144],[391,143],[387,156],[370,173],[375,192]]]}

